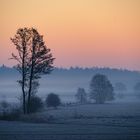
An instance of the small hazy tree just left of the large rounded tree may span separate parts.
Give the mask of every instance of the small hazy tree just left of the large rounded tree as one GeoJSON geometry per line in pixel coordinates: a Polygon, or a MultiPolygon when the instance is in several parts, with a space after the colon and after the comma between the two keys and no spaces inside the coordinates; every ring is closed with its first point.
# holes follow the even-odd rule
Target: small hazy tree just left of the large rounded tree
{"type": "Polygon", "coordinates": [[[76,97],[77,101],[81,104],[87,102],[87,94],[86,94],[84,88],[78,88],[75,97],[76,97]]]}

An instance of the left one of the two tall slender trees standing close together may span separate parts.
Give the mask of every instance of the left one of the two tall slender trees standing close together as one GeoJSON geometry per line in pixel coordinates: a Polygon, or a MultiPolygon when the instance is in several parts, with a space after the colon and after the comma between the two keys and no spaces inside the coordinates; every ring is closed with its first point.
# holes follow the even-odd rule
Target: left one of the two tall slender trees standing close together
{"type": "Polygon", "coordinates": [[[26,87],[28,81],[28,44],[30,42],[30,32],[27,28],[18,29],[14,38],[11,38],[12,42],[16,46],[18,51],[18,56],[12,53],[12,58],[15,59],[18,64],[15,68],[21,74],[21,79],[18,81],[20,86],[22,87],[22,94],[23,94],[23,112],[26,113],[26,87]]]}

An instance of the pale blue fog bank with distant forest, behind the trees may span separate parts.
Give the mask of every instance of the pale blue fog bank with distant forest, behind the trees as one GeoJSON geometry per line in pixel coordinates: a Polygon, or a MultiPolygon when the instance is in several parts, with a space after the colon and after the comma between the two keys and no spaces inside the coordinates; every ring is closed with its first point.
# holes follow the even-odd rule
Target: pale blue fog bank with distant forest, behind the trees
{"type": "MultiPolygon", "coordinates": [[[[55,68],[50,75],[41,78],[37,94],[44,98],[47,94],[53,92],[60,95],[63,102],[74,102],[77,88],[85,88],[88,93],[91,78],[97,73],[105,74],[113,86],[117,82],[126,85],[124,102],[137,99],[134,86],[137,82],[140,82],[140,73],[110,68],[55,68]]],[[[20,75],[15,69],[5,66],[0,67],[0,100],[18,102],[21,95],[21,88],[17,83],[19,79],[20,75]]]]}

